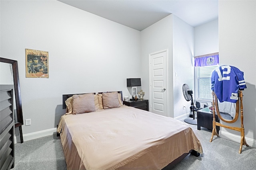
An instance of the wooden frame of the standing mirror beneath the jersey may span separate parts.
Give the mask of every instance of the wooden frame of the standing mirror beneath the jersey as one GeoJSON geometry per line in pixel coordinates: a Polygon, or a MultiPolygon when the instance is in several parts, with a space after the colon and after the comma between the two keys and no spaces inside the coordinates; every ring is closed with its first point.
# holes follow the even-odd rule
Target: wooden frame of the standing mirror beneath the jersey
{"type": "Polygon", "coordinates": [[[212,137],[210,139],[210,142],[212,142],[213,136],[216,135],[217,137],[219,136],[216,130],[216,126],[220,126],[220,127],[225,127],[228,129],[232,129],[235,131],[240,131],[241,132],[241,142],[240,142],[240,149],[238,153],[242,152],[242,146],[246,145],[247,147],[249,146],[246,143],[245,137],[244,137],[244,115],[243,115],[243,93],[241,90],[239,90],[239,99],[240,99],[240,107],[239,107],[239,100],[237,100],[236,102],[236,115],[234,117],[234,119],[232,120],[226,120],[224,119],[221,115],[220,115],[220,111],[219,111],[219,107],[218,107],[218,99],[217,96],[214,92],[212,92],[212,114],[213,114],[213,120],[212,120],[212,137]],[[241,127],[232,127],[232,126],[228,126],[228,125],[223,125],[221,123],[216,122],[215,120],[215,106],[216,106],[216,112],[218,117],[226,122],[226,123],[234,123],[237,121],[238,119],[238,115],[239,115],[239,108],[240,108],[240,115],[241,115],[241,127]]]}

